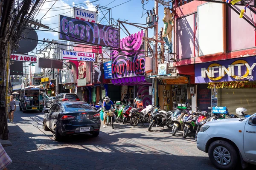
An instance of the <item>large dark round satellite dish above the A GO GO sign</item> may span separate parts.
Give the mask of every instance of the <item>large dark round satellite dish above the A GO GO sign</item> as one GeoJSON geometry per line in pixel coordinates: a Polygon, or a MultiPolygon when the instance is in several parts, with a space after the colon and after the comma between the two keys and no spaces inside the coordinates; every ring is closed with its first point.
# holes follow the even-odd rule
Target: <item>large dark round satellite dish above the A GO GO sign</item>
{"type": "Polygon", "coordinates": [[[36,48],[38,44],[38,35],[33,27],[26,26],[26,29],[20,37],[21,39],[18,42],[18,48],[14,48],[14,51],[18,53],[28,53],[36,48]]]}

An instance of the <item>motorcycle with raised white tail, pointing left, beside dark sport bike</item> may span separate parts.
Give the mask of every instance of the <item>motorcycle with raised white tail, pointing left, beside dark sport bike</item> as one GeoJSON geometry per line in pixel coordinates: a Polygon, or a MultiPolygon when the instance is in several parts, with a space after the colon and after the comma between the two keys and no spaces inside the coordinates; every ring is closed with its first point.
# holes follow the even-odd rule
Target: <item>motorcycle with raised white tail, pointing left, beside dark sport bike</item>
{"type": "Polygon", "coordinates": [[[148,105],[142,111],[136,111],[136,110],[132,111],[130,124],[132,126],[137,126],[139,122],[141,122],[142,124],[149,122],[148,118],[151,115],[152,110],[153,110],[153,106],[148,105]]]}

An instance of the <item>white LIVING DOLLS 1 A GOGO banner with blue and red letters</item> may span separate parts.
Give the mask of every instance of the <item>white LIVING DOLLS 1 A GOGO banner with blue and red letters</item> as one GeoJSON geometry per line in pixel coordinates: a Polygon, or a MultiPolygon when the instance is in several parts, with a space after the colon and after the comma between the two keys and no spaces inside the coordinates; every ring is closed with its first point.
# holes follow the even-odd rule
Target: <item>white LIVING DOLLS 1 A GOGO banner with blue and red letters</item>
{"type": "Polygon", "coordinates": [[[81,51],[61,50],[61,59],[94,62],[96,54],[81,51]]]}

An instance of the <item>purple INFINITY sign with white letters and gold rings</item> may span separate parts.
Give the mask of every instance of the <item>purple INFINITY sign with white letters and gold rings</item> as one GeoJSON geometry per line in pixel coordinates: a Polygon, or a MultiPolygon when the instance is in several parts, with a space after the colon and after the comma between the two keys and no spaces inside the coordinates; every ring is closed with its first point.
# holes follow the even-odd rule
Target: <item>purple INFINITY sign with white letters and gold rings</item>
{"type": "Polygon", "coordinates": [[[196,64],[195,83],[254,81],[255,66],[255,56],[196,64]]]}

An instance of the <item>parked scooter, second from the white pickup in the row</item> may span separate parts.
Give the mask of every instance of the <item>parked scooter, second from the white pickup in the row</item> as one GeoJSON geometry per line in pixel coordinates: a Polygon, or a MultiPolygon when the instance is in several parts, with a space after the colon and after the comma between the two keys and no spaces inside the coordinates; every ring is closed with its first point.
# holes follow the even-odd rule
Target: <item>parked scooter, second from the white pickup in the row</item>
{"type": "Polygon", "coordinates": [[[183,129],[183,138],[186,138],[190,133],[195,133],[197,130],[197,125],[195,124],[196,120],[198,119],[198,114],[195,111],[189,111],[187,114],[183,117],[183,122],[185,124],[185,127],[183,129]]]}

